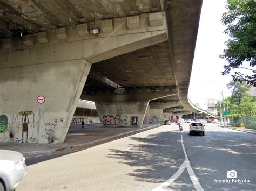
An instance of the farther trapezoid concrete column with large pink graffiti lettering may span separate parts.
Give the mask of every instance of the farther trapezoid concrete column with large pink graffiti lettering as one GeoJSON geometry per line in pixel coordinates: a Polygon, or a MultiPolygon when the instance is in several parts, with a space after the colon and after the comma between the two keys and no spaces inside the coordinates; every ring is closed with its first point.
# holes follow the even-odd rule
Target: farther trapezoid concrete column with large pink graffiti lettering
{"type": "Polygon", "coordinates": [[[95,102],[100,123],[105,126],[140,127],[149,101],[95,102]]]}

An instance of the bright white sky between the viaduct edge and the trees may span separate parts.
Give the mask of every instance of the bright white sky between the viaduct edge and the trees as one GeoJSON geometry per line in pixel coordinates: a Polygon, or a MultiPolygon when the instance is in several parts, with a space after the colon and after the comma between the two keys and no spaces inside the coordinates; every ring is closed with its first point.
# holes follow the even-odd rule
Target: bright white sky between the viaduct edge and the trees
{"type": "MultiPolygon", "coordinates": [[[[225,59],[219,58],[226,48],[228,34],[224,34],[226,26],[221,23],[221,15],[226,12],[225,0],[204,0],[201,10],[196,51],[191,73],[188,98],[192,103],[199,103],[206,109],[207,98],[220,100],[221,91],[224,98],[231,95],[227,84],[232,81],[234,72],[250,74],[250,70],[237,68],[227,75],[221,75],[223,66],[228,65],[225,59]]],[[[247,67],[243,65],[242,67],[247,67]]]]}

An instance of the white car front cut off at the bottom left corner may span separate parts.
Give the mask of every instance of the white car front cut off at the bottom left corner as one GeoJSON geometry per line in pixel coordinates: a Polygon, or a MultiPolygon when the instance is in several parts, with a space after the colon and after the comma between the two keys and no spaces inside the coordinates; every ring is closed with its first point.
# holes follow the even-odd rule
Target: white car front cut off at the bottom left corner
{"type": "Polygon", "coordinates": [[[25,174],[26,164],[22,153],[0,150],[0,191],[14,190],[25,174]]]}

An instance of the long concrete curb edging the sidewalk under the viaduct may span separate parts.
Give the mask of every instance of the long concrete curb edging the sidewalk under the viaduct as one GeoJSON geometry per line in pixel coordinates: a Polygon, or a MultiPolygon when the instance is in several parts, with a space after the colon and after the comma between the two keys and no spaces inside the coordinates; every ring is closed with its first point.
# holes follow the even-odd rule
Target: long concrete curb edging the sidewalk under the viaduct
{"type": "Polygon", "coordinates": [[[83,144],[78,144],[78,145],[73,145],[73,146],[68,146],[68,147],[62,147],[62,148],[54,148],[54,149],[50,149],[50,150],[41,150],[41,151],[30,151],[30,152],[22,152],[22,154],[24,155],[24,157],[32,157],[33,155],[37,155],[37,154],[51,154],[54,152],[60,152],[60,151],[69,151],[72,150],[75,151],[76,148],[80,148],[80,147],[89,147],[89,146],[96,146],[102,143],[105,143],[107,140],[111,140],[114,138],[123,138],[126,136],[130,136],[139,132],[143,132],[146,130],[150,130],[150,129],[154,129],[157,128],[158,126],[160,126],[161,124],[157,124],[157,125],[153,125],[153,126],[149,126],[146,128],[142,128],[142,129],[136,129],[133,131],[128,131],[128,132],[124,132],[124,133],[120,133],[118,135],[114,135],[111,137],[106,137],[106,138],[102,138],[102,139],[98,139],[98,140],[93,140],[92,142],[87,142],[87,143],[83,143],[83,144]]]}

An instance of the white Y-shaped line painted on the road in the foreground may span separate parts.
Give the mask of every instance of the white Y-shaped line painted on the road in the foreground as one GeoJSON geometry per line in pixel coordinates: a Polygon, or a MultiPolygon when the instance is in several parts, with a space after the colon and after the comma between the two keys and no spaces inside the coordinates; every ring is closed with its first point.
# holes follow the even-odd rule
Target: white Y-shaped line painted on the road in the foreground
{"type": "Polygon", "coordinates": [[[190,165],[190,161],[188,160],[188,157],[187,157],[187,153],[186,153],[186,150],[185,150],[185,146],[183,144],[183,137],[182,137],[182,133],[181,133],[181,144],[182,144],[182,148],[183,148],[183,152],[184,152],[184,155],[185,155],[185,161],[183,162],[183,164],[179,167],[178,171],[172,175],[172,177],[168,180],[166,180],[164,183],[162,183],[161,185],[159,185],[158,187],[154,188],[152,191],[157,191],[157,190],[172,190],[171,188],[169,188],[168,186],[171,185],[172,182],[174,182],[182,173],[183,171],[185,170],[185,168],[187,168],[187,172],[188,174],[190,175],[190,179],[194,185],[194,188],[196,188],[196,190],[204,190],[198,179],[197,179],[197,176],[194,174],[193,172],[193,169],[190,165]]]}

